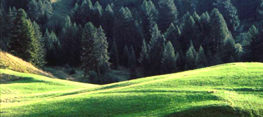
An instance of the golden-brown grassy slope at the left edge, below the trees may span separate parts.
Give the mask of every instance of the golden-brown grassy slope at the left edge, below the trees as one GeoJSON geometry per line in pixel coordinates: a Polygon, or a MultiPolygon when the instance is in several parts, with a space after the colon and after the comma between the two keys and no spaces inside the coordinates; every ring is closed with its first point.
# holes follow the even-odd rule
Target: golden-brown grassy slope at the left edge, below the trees
{"type": "Polygon", "coordinates": [[[41,74],[44,76],[53,77],[52,74],[39,70],[34,65],[22,60],[21,58],[13,56],[12,54],[8,54],[7,52],[0,51],[0,56],[0,68],[5,67],[6,69],[14,70],[17,72],[41,74]]]}

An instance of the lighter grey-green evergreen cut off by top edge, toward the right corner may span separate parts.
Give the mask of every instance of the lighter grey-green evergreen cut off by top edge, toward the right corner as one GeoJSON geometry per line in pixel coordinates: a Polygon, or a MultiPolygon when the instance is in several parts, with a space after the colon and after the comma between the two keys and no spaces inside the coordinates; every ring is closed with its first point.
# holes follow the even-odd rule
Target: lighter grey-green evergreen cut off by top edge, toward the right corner
{"type": "Polygon", "coordinates": [[[228,25],[230,31],[237,30],[239,26],[239,18],[237,8],[233,6],[230,0],[215,1],[215,8],[218,8],[228,25]]]}

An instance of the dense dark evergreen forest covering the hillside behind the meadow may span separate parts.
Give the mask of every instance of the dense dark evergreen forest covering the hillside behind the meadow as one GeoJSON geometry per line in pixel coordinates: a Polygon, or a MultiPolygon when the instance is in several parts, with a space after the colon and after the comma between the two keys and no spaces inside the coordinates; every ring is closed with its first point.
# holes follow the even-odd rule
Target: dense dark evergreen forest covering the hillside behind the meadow
{"type": "Polygon", "coordinates": [[[1,50],[81,68],[90,83],[116,82],[111,70],[139,78],[263,62],[263,0],[72,0],[67,16],[55,2],[1,0],[1,50]]]}

